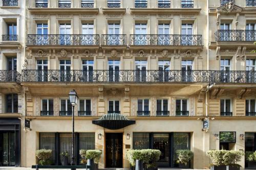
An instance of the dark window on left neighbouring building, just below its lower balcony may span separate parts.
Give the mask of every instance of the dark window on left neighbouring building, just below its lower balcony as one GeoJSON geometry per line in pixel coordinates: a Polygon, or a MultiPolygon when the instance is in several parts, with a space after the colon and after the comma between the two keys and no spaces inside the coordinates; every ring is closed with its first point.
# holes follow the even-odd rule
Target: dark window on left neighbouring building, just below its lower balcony
{"type": "Polygon", "coordinates": [[[6,113],[18,113],[18,94],[6,94],[6,113]]]}

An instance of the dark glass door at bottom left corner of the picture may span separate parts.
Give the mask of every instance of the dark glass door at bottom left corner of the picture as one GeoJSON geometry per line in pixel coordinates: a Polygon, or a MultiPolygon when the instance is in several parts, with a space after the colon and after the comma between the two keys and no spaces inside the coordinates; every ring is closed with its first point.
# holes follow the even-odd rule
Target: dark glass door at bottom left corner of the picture
{"type": "Polygon", "coordinates": [[[0,166],[15,165],[15,133],[0,133],[0,166]]]}

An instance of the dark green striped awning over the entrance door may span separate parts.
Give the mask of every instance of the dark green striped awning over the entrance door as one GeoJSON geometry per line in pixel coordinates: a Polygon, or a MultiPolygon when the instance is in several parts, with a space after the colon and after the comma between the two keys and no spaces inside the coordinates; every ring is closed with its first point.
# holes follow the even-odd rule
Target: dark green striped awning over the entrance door
{"type": "Polygon", "coordinates": [[[129,120],[122,114],[111,113],[103,115],[98,120],[93,120],[93,124],[106,129],[117,130],[135,124],[135,120],[129,120]]]}

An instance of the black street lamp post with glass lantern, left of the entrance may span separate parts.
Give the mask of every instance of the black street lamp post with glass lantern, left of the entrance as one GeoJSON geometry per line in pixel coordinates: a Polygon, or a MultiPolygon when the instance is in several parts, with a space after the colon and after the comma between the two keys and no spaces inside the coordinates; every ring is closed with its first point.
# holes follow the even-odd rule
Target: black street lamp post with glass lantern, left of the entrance
{"type": "Polygon", "coordinates": [[[72,157],[71,157],[71,165],[75,165],[75,105],[78,101],[78,96],[76,90],[71,90],[69,92],[69,100],[72,105],[72,157]]]}

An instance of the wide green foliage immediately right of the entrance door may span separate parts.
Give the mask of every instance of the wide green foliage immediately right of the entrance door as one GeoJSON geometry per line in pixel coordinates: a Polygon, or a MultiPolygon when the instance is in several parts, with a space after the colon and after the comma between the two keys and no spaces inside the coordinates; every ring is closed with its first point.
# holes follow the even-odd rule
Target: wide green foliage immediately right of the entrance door
{"type": "Polygon", "coordinates": [[[156,162],[160,159],[159,150],[129,150],[126,157],[132,166],[135,166],[136,159],[141,160],[146,167],[156,167],[156,162]]]}

